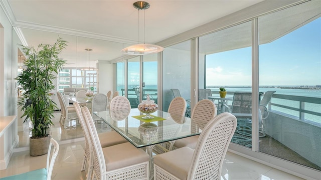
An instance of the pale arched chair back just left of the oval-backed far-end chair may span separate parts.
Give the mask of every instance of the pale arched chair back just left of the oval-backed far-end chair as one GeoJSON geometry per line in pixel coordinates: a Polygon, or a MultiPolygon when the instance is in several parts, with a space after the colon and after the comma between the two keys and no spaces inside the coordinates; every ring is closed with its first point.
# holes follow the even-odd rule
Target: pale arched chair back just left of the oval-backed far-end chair
{"type": "Polygon", "coordinates": [[[91,113],[94,120],[100,120],[100,118],[93,112],[107,110],[108,97],[104,93],[96,93],[91,100],[91,113]]]}

